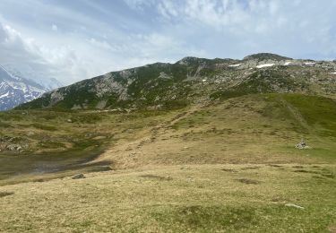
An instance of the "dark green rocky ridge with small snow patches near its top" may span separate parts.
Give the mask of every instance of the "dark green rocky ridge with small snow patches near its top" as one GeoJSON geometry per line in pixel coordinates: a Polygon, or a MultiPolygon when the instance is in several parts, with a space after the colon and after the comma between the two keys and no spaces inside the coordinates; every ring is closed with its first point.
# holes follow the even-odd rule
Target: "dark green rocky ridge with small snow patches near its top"
{"type": "Polygon", "coordinates": [[[76,82],[20,108],[178,108],[192,102],[266,92],[336,99],[336,63],[256,54],[243,60],[185,57],[76,82]]]}

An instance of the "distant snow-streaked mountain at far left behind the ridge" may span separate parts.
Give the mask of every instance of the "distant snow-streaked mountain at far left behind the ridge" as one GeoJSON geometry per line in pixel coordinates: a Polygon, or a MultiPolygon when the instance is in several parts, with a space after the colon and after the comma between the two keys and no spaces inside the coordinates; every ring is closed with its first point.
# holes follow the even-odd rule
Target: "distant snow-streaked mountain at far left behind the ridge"
{"type": "Polygon", "coordinates": [[[38,83],[17,77],[0,65],[0,111],[37,99],[46,91],[38,83]]]}

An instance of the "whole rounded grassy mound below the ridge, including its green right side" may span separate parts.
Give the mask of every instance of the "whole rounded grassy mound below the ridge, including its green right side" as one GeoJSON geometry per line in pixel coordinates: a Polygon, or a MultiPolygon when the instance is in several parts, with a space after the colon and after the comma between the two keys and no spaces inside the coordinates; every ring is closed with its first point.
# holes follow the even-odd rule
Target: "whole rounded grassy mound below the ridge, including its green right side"
{"type": "Polygon", "coordinates": [[[100,160],[152,164],[330,162],[336,104],[300,94],[263,94],[185,108],[136,140],[116,142],[100,160]],[[309,150],[295,145],[305,139],[309,150]]]}

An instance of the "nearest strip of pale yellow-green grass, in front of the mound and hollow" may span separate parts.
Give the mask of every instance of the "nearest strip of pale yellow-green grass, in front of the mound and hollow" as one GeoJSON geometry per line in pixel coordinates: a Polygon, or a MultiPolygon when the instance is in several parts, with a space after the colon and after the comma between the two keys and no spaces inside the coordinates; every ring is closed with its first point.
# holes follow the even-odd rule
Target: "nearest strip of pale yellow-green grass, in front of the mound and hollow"
{"type": "Polygon", "coordinates": [[[329,165],[194,165],[3,186],[0,226],[4,232],[334,232],[335,173],[329,165]]]}

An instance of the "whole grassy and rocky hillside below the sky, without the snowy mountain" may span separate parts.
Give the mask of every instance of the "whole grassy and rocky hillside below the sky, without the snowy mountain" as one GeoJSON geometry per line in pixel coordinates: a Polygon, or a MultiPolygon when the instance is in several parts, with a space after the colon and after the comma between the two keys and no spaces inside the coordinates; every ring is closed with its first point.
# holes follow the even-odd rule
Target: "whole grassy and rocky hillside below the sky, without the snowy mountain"
{"type": "Polygon", "coordinates": [[[187,57],[0,112],[0,231],[334,232],[334,62],[306,63],[187,57]]]}

